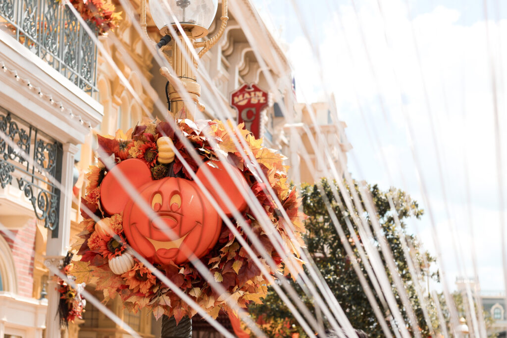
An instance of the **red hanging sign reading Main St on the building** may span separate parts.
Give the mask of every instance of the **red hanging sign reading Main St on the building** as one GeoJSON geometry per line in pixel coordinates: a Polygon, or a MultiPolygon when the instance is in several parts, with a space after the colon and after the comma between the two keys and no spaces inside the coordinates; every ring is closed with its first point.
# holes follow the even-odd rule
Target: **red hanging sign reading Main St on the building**
{"type": "Polygon", "coordinates": [[[245,124],[256,138],[261,137],[261,111],[268,105],[268,93],[256,84],[244,84],[231,94],[231,105],[238,110],[238,124],[245,124]]]}

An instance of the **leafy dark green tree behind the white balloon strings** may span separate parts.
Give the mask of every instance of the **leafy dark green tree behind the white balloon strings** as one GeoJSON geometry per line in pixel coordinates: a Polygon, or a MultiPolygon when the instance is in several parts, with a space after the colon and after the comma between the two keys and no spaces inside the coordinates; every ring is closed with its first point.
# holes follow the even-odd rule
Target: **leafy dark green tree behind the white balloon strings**
{"type": "MultiPolygon", "coordinates": [[[[308,216],[308,219],[306,221],[307,233],[305,238],[308,252],[313,258],[316,268],[320,271],[325,281],[331,288],[336,299],[340,303],[340,306],[345,311],[345,314],[347,315],[347,318],[352,326],[354,328],[363,329],[371,337],[383,337],[384,334],[382,332],[380,324],[372,310],[365,291],[359,282],[355,270],[351,265],[350,257],[348,257],[345,248],[342,245],[341,238],[336,231],[331,215],[327,211],[328,209],[326,207],[326,201],[322,198],[319,185],[321,186],[322,191],[324,192],[327,200],[333,208],[334,213],[337,215],[340,226],[345,233],[346,240],[351,244],[352,250],[354,251],[356,257],[358,257],[358,246],[363,246],[364,243],[360,238],[358,241],[359,243],[353,241],[351,233],[348,231],[348,228],[345,225],[345,218],[350,217],[353,214],[359,216],[358,212],[355,210],[355,207],[353,210],[342,211],[340,206],[344,206],[346,204],[339,192],[339,187],[336,182],[322,179],[319,183],[320,184],[303,185],[301,188],[303,210],[308,216]],[[333,184],[334,187],[330,185],[330,183],[333,184]],[[338,191],[338,196],[340,197],[340,201],[338,202],[335,200],[333,194],[335,187],[335,191],[338,191]]],[[[348,195],[352,196],[350,191],[351,187],[345,183],[344,186],[345,189],[348,190],[348,195]]],[[[352,189],[355,189],[357,191],[357,195],[360,198],[361,195],[359,194],[359,186],[357,182],[354,181],[354,186],[352,189]]],[[[409,271],[408,262],[404,255],[400,237],[405,237],[406,241],[411,244],[413,248],[412,254],[417,260],[417,264],[426,266],[426,269],[422,269],[420,282],[425,283],[426,277],[435,277],[435,274],[429,273],[428,267],[428,265],[430,265],[434,259],[427,252],[421,251],[420,244],[417,239],[413,235],[408,234],[406,231],[405,221],[409,217],[420,218],[423,214],[423,210],[419,208],[416,201],[413,201],[405,192],[401,190],[390,189],[389,191],[384,192],[381,191],[377,185],[368,185],[368,189],[371,193],[373,203],[377,211],[377,215],[375,215],[375,217],[378,217],[380,220],[381,229],[395,259],[397,273],[401,276],[405,284],[405,289],[412,304],[412,309],[414,309],[415,315],[417,317],[418,327],[423,336],[428,336],[430,332],[428,326],[426,325],[426,321],[424,320],[423,312],[419,304],[419,299],[417,297],[415,285],[409,271]],[[402,224],[401,229],[395,224],[395,218],[393,212],[391,211],[388,196],[391,196],[394,202],[397,215],[402,224]],[[423,264],[424,261],[426,261],[426,265],[423,264]]],[[[365,203],[362,199],[359,201],[359,203],[361,203],[363,205],[363,209],[366,210],[365,203]]],[[[372,229],[370,223],[371,215],[365,214],[365,217],[369,223],[370,229],[372,229]]],[[[356,225],[352,221],[351,217],[350,221],[352,223],[354,232],[357,236],[359,236],[356,225]]],[[[372,233],[374,233],[373,229],[372,233]]],[[[377,250],[380,252],[380,246],[378,244],[377,238],[374,238],[371,243],[373,243],[376,246],[377,250]]],[[[381,257],[383,257],[382,254],[381,257]]],[[[385,261],[383,263],[384,267],[386,267],[385,261]]],[[[379,306],[381,306],[379,295],[375,293],[373,285],[367,276],[363,262],[359,261],[358,264],[361,272],[368,280],[370,288],[374,292],[377,303],[379,306]]],[[[387,268],[385,269],[389,279],[391,279],[391,275],[389,274],[387,268]]],[[[313,299],[306,296],[298,283],[293,282],[292,284],[310,311],[317,317],[321,316],[317,313],[317,310],[313,305],[313,299]]],[[[407,313],[399,299],[399,295],[395,291],[395,286],[392,282],[392,279],[391,285],[392,289],[394,290],[393,292],[396,300],[399,304],[399,309],[404,316],[405,322],[409,323],[407,313]]],[[[291,323],[295,324],[292,326],[284,325],[288,331],[298,331],[302,336],[305,336],[305,334],[297,325],[297,322],[294,319],[292,313],[286,308],[285,304],[280,300],[278,295],[272,289],[269,291],[264,305],[251,306],[249,310],[254,317],[261,316],[261,322],[272,323],[273,325],[280,326],[283,323],[286,324],[286,321],[288,320],[291,323]]],[[[385,311],[385,309],[382,308],[381,311],[384,317],[388,317],[388,312],[385,311]]],[[[327,326],[328,322],[325,318],[323,318],[323,321],[324,325],[327,326]]],[[[389,322],[388,325],[390,325],[389,322]]],[[[408,327],[408,329],[409,331],[411,330],[410,327],[408,327]]],[[[272,335],[277,336],[276,333],[272,333],[272,335]]],[[[284,334],[280,333],[278,336],[284,336],[284,334]]]]}

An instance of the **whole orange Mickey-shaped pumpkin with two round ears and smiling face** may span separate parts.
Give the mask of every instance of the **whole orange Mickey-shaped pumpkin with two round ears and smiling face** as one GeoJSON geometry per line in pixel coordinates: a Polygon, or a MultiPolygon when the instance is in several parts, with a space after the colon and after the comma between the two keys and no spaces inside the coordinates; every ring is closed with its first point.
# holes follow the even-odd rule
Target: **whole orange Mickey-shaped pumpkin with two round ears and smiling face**
{"type": "MultiPolygon", "coordinates": [[[[234,181],[243,189],[249,187],[239,169],[225,162],[208,161],[196,173],[229,217],[233,210],[207,179],[204,168],[222,185],[233,208],[243,211],[246,201],[234,181]]],[[[202,257],[216,244],[222,228],[218,212],[195,181],[176,177],[154,180],[148,166],[139,159],[122,161],[105,175],[100,202],[109,214],[123,211],[123,230],[129,245],[155,264],[182,264],[202,257]],[[135,190],[134,198],[130,189],[135,190]]]]}

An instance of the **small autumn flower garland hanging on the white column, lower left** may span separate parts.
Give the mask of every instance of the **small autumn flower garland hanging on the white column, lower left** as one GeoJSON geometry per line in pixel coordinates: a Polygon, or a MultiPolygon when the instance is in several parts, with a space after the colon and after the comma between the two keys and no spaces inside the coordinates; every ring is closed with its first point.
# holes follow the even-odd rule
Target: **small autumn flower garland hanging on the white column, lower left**
{"type": "MultiPolygon", "coordinates": [[[[73,267],[73,263],[71,262],[72,256],[72,253],[67,253],[67,256],[63,260],[62,268],[60,269],[60,272],[70,279],[74,279],[74,276],[69,275],[69,271],[73,267]]],[[[80,291],[84,289],[85,284],[77,284],[78,290],[75,290],[59,277],[57,277],[57,283],[57,290],[60,292],[60,302],[58,304],[60,326],[67,327],[68,322],[74,323],[76,318],[83,319],[86,300],[81,296],[80,291]]]]}

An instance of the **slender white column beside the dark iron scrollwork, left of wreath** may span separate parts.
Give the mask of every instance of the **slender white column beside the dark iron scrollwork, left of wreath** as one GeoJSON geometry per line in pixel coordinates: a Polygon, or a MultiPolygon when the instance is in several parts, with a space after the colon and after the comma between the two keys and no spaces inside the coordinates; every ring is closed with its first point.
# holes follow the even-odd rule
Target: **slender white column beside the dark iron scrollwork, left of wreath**
{"type": "Polygon", "coordinates": [[[57,316],[60,295],[56,290],[56,283],[52,281],[51,270],[59,269],[62,259],[67,252],[70,237],[70,209],[72,208],[72,186],[74,175],[74,156],[78,147],[71,143],[63,144],[61,163],[61,191],[60,213],[56,233],[48,234],[46,243],[46,257],[44,264],[50,269],[48,280],[48,312],[46,314],[46,336],[60,338],[60,321],[57,316]]]}

